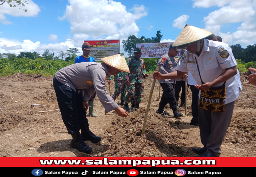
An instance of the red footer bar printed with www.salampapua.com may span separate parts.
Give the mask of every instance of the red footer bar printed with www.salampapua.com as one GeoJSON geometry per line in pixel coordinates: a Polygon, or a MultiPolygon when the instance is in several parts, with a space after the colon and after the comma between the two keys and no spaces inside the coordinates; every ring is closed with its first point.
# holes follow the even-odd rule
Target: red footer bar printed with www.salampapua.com
{"type": "Polygon", "coordinates": [[[225,158],[1,158],[0,167],[255,167],[255,157],[225,158]]]}

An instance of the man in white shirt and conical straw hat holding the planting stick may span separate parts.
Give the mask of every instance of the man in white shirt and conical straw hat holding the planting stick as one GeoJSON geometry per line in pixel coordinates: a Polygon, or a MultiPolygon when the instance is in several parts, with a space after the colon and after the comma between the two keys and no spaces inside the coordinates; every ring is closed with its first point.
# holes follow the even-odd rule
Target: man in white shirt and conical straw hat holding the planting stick
{"type": "Polygon", "coordinates": [[[235,100],[242,85],[231,48],[221,42],[204,39],[212,33],[186,25],[173,46],[186,48],[175,72],[157,79],[176,79],[190,71],[200,90],[198,120],[203,148],[193,148],[197,157],[220,157],[221,144],[229,127],[235,100]]]}

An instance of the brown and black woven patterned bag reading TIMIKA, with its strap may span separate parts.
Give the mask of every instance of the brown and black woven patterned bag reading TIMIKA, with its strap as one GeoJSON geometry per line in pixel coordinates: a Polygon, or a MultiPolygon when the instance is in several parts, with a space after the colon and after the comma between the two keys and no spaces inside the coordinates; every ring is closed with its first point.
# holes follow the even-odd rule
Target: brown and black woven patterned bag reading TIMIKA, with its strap
{"type": "MultiPolygon", "coordinates": [[[[197,64],[197,61],[196,61],[197,64]]],[[[204,84],[198,68],[202,84],[204,84]]],[[[226,100],[226,81],[218,87],[211,87],[205,91],[201,90],[199,108],[213,112],[224,112],[226,100]]]]}

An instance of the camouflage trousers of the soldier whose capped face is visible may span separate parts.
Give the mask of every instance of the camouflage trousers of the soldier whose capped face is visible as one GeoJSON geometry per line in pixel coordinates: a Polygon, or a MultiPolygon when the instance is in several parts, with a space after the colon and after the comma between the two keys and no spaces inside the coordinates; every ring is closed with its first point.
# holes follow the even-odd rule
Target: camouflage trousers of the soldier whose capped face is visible
{"type": "Polygon", "coordinates": [[[125,96],[125,102],[130,103],[132,101],[133,104],[140,104],[142,91],[143,91],[142,83],[128,84],[127,95],[125,96]]]}

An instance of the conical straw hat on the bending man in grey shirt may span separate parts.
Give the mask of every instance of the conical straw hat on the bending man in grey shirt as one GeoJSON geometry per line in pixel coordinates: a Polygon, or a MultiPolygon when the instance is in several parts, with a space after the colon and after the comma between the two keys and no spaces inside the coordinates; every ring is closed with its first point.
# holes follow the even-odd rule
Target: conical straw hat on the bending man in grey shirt
{"type": "Polygon", "coordinates": [[[115,69],[119,69],[121,71],[124,71],[125,73],[130,73],[129,67],[125,61],[123,53],[118,53],[113,56],[102,58],[101,61],[115,69]]]}

